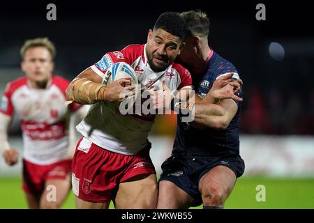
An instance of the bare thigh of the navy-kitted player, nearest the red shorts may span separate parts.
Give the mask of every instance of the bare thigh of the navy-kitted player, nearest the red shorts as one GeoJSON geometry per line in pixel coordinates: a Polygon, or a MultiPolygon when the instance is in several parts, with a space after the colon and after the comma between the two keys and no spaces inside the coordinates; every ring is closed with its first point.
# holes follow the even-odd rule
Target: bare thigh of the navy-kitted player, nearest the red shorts
{"type": "Polygon", "coordinates": [[[159,182],[158,209],[185,209],[193,203],[193,197],[171,181],[159,182]]]}

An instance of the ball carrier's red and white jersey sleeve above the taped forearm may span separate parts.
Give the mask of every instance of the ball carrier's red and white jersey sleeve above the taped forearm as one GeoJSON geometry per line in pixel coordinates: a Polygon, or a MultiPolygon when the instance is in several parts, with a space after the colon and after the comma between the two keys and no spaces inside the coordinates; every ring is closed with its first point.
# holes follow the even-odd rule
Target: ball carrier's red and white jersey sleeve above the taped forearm
{"type": "Polygon", "coordinates": [[[100,61],[91,66],[91,69],[96,72],[100,77],[105,77],[105,72],[114,63],[125,62],[132,65],[135,61],[137,54],[140,54],[142,45],[128,45],[120,51],[106,53],[100,61]]]}

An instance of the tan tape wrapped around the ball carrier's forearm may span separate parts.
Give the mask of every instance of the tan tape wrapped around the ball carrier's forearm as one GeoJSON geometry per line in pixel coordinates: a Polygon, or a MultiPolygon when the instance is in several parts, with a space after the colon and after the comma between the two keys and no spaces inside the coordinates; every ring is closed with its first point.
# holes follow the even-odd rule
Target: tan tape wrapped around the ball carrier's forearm
{"type": "Polygon", "coordinates": [[[91,82],[87,78],[80,78],[74,79],[68,89],[66,92],[68,100],[80,104],[94,104],[98,100],[103,100],[105,85],[91,82]]]}

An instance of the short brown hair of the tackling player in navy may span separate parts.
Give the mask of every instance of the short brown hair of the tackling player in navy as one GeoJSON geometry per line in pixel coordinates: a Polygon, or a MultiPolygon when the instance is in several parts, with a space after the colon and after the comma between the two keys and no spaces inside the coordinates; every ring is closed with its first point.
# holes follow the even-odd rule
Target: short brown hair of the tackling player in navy
{"type": "Polygon", "coordinates": [[[190,10],[180,13],[180,16],[186,23],[188,35],[199,34],[201,36],[208,36],[209,18],[206,13],[201,10],[190,10]]]}

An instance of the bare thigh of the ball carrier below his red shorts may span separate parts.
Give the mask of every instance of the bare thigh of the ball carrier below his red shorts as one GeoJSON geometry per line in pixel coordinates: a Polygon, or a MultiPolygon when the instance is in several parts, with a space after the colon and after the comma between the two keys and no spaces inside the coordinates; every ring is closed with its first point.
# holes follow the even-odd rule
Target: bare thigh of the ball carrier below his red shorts
{"type": "Polygon", "coordinates": [[[156,174],[142,174],[120,183],[114,199],[119,209],[156,208],[157,201],[156,174]]]}

